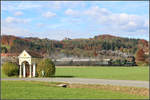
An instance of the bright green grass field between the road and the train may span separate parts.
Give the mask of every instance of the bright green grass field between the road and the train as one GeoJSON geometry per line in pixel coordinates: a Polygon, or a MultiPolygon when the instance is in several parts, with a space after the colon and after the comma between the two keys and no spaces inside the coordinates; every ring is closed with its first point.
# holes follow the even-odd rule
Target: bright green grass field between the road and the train
{"type": "Polygon", "coordinates": [[[148,81],[149,67],[57,67],[55,76],[148,81]]]}

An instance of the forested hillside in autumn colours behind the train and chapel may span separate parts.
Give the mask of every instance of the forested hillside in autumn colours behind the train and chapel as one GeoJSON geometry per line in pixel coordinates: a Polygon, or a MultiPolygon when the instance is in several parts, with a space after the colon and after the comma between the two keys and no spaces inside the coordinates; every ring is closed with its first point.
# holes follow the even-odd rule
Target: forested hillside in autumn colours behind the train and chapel
{"type": "Polygon", "coordinates": [[[99,35],[89,39],[64,39],[62,41],[8,35],[1,37],[2,53],[20,53],[25,49],[56,58],[118,58],[132,55],[139,61],[145,61],[149,55],[148,47],[149,43],[146,40],[112,35],[99,35]]]}

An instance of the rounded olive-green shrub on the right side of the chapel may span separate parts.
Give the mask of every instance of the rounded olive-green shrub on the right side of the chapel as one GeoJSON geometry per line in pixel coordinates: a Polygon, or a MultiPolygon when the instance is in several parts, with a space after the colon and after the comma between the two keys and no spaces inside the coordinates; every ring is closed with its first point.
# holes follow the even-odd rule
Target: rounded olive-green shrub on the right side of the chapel
{"type": "Polygon", "coordinates": [[[39,77],[50,77],[55,74],[55,64],[51,59],[43,59],[37,65],[37,74],[39,77]]]}

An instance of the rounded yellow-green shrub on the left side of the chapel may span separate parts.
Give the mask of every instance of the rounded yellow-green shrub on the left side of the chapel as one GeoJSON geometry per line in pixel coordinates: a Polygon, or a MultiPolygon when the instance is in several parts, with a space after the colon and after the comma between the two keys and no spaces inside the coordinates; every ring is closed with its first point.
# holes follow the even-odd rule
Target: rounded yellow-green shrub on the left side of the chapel
{"type": "Polygon", "coordinates": [[[7,76],[17,76],[19,74],[19,67],[12,62],[6,62],[2,65],[2,71],[7,76]]]}

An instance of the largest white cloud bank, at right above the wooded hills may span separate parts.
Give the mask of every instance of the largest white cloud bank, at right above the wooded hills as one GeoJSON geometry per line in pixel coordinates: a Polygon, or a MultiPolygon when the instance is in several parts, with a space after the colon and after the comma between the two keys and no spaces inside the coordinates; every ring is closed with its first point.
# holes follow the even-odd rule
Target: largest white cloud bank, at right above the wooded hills
{"type": "Polygon", "coordinates": [[[139,15],[126,13],[112,13],[105,8],[98,6],[86,10],[85,15],[89,16],[93,22],[107,27],[108,29],[120,30],[124,32],[133,32],[148,28],[145,18],[139,15]],[[96,19],[96,20],[95,20],[96,19]]]}

